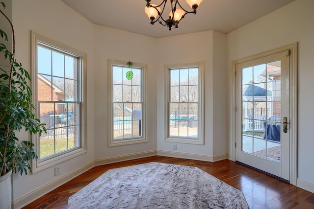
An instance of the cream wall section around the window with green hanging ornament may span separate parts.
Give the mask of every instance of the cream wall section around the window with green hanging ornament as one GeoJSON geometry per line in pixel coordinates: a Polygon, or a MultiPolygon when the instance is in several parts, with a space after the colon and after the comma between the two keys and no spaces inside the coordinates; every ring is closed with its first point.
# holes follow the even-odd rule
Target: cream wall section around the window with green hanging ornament
{"type": "MultiPolygon", "coordinates": [[[[94,111],[95,159],[110,162],[111,157],[157,149],[157,70],[156,39],[100,25],[94,26],[94,111]],[[148,65],[147,70],[147,140],[145,143],[107,147],[107,59],[148,65]],[[108,160],[108,161],[106,161],[108,160]]],[[[114,161],[114,160],[113,160],[114,161]]]]}

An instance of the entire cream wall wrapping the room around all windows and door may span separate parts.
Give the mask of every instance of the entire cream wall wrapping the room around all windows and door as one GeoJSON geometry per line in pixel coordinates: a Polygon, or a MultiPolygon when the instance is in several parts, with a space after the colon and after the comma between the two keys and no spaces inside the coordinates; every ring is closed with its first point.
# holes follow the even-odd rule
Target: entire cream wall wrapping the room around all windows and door
{"type": "MultiPolygon", "coordinates": [[[[224,158],[228,152],[229,116],[233,108],[230,105],[231,61],[293,42],[299,42],[298,179],[300,186],[311,187],[314,184],[314,167],[311,166],[314,141],[310,131],[314,116],[311,111],[314,103],[313,8],[313,0],[296,0],[228,35],[205,31],[155,39],[93,25],[59,0],[13,0],[16,56],[26,69],[31,71],[30,30],[87,53],[88,68],[88,152],[61,163],[61,176],[53,175],[53,167],[22,177],[15,174],[14,201],[23,202],[20,200],[28,197],[29,192],[94,160],[101,162],[154,150],[205,160],[224,158]],[[107,147],[107,59],[148,65],[146,143],[107,147]],[[164,141],[164,65],[197,61],[205,63],[205,144],[177,143],[174,152],[173,143],[164,141]]],[[[30,140],[26,133],[20,135],[30,140]]]]}

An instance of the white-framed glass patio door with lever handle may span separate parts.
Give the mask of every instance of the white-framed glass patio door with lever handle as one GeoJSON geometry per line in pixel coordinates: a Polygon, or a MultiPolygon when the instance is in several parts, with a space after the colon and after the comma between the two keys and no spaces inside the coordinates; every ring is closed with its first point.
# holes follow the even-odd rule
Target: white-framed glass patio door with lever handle
{"type": "Polygon", "coordinates": [[[289,180],[289,56],[247,61],[236,73],[236,161],[289,180]]]}

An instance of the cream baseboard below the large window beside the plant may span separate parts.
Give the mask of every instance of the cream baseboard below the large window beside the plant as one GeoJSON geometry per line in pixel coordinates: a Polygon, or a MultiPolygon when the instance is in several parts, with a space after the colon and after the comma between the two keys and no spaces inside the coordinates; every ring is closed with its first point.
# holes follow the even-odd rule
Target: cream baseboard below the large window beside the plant
{"type": "Polygon", "coordinates": [[[34,202],[38,198],[51,192],[53,189],[67,183],[68,181],[74,179],[75,177],[79,176],[80,174],[86,172],[87,170],[89,170],[93,167],[95,167],[94,161],[87,163],[87,164],[81,166],[80,168],[78,168],[78,169],[76,169],[70,173],[65,174],[64,176],[61,176],[60,178],[46,184],[45,186],[42,186],[40,188],[37,188],[37,189],[27,193],[26,195],[13,201],[13,208],[14,209],[20,209],[20,208],[34,202]]]}

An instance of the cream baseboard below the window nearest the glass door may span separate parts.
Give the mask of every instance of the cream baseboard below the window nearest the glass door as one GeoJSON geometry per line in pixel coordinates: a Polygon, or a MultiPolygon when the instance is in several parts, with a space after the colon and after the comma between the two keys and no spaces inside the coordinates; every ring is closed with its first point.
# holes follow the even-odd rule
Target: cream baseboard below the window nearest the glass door
{"type": "Polygon", "coordinates": [[[216,161],[228,159],[227,153],[212,156],[212,155],[197,155],[197,154],[190,154],[190,153],[158,150],[157,155],[165,156],[165,157],[172,157],[172,158],[183,158],[183,159],[189,159],[189,160],[207,161],[207,162],[216,162],[216,161]]]}

